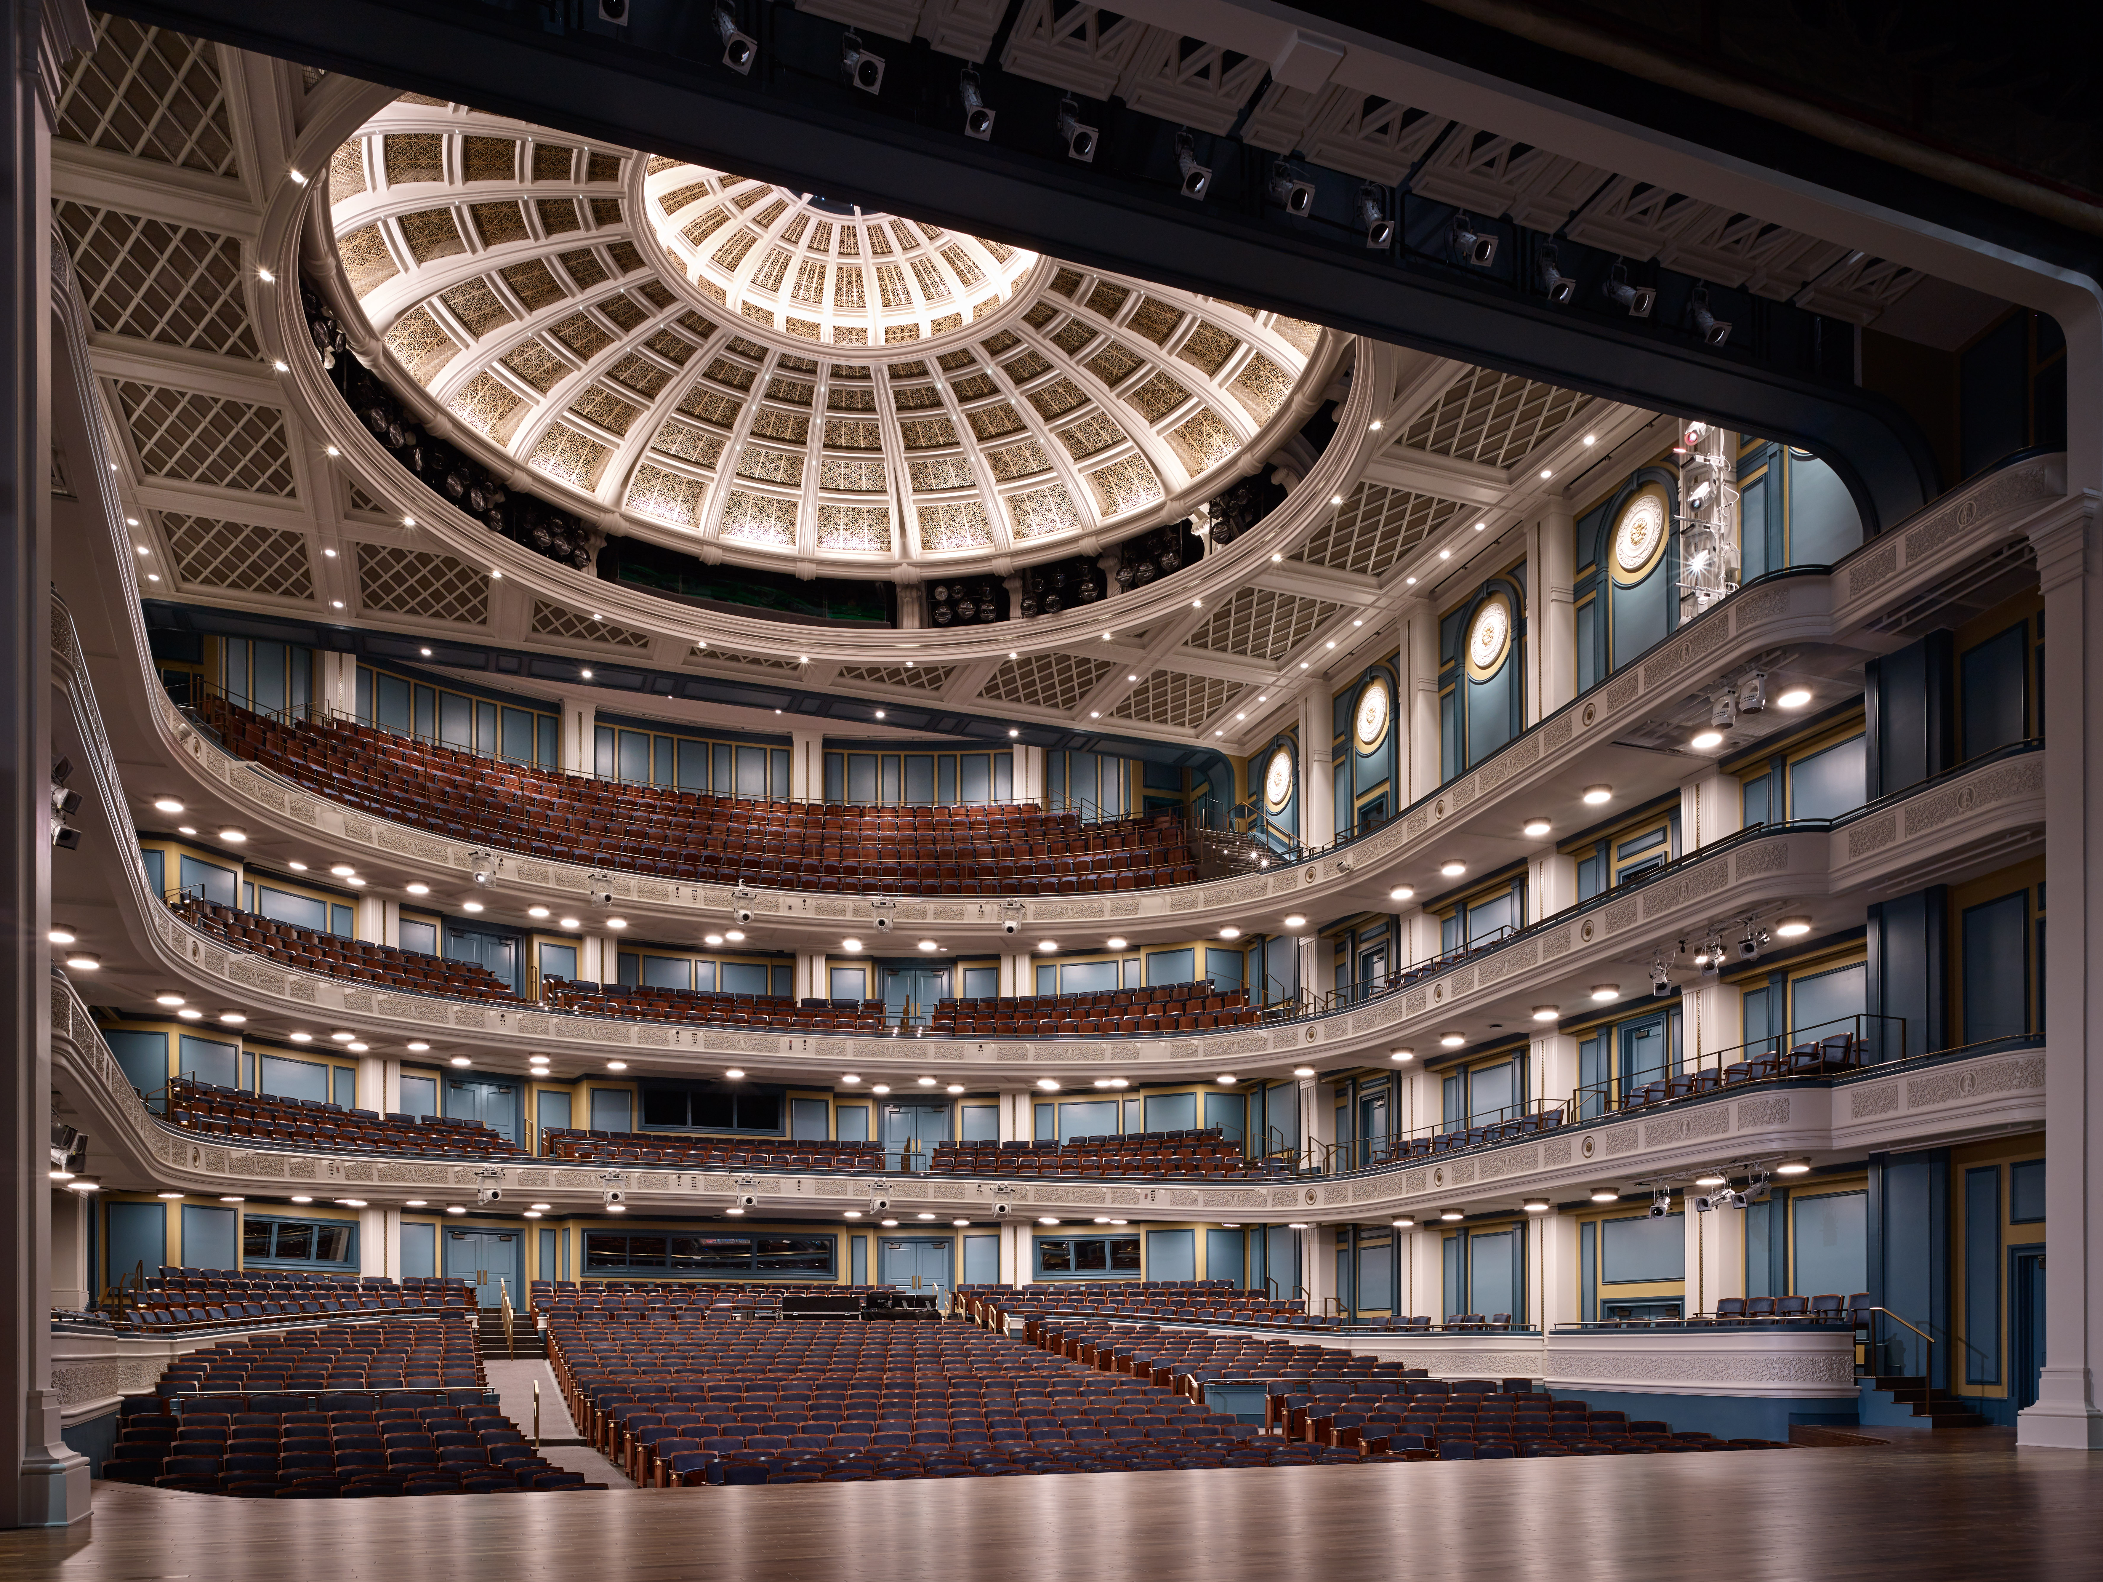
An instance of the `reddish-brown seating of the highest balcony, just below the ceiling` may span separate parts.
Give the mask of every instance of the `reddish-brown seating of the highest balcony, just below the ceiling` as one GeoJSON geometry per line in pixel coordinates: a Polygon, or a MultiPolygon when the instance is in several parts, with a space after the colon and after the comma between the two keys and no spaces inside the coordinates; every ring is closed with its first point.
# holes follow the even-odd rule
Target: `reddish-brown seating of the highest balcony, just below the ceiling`
{"type": "Polygon", "coordinates": [[[749,802],[496,764],[349,722],[284,726],[223,698],[229,751],[311,791],[454,839],[667,879],[919,896],[1192,884],[1176,814],[1083,825],[1035,804],[749,802]]]}

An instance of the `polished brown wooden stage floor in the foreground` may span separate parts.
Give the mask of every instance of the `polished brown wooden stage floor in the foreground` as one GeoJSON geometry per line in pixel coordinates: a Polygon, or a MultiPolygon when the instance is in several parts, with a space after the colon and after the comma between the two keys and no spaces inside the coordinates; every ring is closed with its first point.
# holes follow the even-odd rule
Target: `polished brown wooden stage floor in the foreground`
{"type": "Polygon", "coordinates": [[[231,1500],[95,1485],[0,1582],[2103,1578],[2103,1454],[1518,1462],[231,1500]]]}

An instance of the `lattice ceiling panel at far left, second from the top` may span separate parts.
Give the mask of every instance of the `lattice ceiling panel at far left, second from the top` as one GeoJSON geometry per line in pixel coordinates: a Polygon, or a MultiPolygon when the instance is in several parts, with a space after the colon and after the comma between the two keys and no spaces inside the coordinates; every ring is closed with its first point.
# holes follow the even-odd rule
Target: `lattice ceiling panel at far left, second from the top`
{"type": "Polygon", "coordinates": [[[257,358],[231,236],[86,204],[53,212],[74,257],[88,318],[105,334],[257,358]]]}

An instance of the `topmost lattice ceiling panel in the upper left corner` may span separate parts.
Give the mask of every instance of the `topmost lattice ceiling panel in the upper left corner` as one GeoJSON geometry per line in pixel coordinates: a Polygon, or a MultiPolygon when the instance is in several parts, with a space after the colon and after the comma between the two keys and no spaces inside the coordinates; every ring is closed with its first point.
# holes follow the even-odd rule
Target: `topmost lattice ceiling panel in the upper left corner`
{"type": "Polygon", "coordinates": [[[59,137],[139,160],[236,173],[219,53],[202,38],[95,13],[95,48],[59,90],[59,137]]]}

